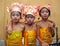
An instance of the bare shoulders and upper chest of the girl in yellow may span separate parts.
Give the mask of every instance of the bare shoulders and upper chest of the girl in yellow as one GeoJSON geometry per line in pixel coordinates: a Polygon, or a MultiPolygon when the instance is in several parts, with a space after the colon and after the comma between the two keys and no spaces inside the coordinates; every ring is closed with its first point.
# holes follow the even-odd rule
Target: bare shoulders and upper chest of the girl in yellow
{"type": "Polygon", "coordinates": [[[7,30],[8,33],[11,33],[12,30],[20,30],[20,31],[23,31],[24,30],[24,24],[23,23],[18,23],[16,25],[13,25],[13,24],[9,23],[6,26],[6,30],[7,30]]]}

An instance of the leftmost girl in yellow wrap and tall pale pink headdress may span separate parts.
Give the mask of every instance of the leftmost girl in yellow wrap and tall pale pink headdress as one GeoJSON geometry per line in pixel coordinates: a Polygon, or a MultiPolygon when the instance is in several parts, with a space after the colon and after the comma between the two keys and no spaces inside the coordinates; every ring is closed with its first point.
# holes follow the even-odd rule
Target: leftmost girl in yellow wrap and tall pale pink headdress
{"type": "Polygon", "coordinates": [[[24,25],[19,22],[21,19],[21,6],[18,3],[11,5],[9,9],[11,21],[6,29],[6,46],[22,46],[22,31],[24,25]]]}

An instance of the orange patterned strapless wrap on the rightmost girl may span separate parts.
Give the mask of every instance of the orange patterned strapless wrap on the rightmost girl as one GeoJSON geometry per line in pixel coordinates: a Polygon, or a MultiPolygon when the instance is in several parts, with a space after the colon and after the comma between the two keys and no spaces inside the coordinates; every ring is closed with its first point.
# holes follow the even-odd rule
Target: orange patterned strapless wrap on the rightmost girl
{"type": "Polygon", "coordinates": [[[40,39],[48,44],[52,42],[52,34],[49,28],[40,28],[40,39]]]}

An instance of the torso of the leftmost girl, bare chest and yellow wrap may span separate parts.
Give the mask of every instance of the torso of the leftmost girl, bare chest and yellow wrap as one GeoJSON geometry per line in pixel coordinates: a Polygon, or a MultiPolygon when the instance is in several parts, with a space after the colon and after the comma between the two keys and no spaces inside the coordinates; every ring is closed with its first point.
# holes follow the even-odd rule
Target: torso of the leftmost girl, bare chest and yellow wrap
{"type": "Polygon", "coordinates": [[[13,26],[11,31],[8,30],[6,40],[7,46],[22,46],[22,31],[23,27],[20,25],[13,26]]]}

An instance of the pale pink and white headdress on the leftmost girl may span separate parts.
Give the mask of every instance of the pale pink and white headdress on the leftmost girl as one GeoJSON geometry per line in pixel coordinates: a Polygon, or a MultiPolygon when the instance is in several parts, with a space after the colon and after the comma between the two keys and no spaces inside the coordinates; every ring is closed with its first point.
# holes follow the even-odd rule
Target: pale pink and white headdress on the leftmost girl
{"type": "Polygon", "coordinates": [[[7,7],[7,12],[19,11],[22,12],[23,4],[13,3],[10,7],[7,7]]]}

